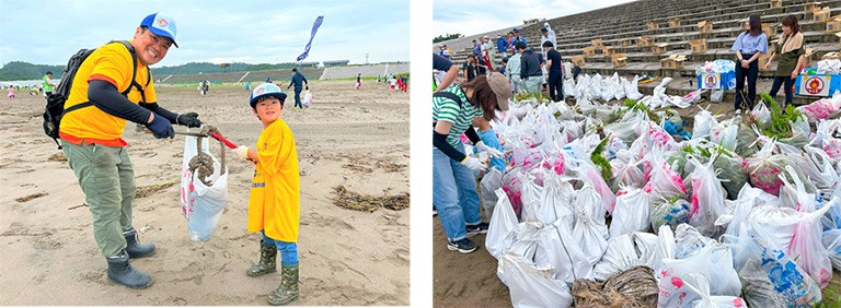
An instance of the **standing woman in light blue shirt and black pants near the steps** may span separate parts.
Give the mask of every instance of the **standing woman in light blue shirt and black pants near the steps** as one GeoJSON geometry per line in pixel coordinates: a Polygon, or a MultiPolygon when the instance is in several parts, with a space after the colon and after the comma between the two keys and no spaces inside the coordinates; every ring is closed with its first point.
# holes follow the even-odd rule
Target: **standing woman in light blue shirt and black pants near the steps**
{"type": "Polygon", "coordinates": [[[753,109],[757,97],[757,78],[759,76],[759,57],[768,55],[768,38],[762,32],[758,14],[748,17],[748,29],[739,34],[733,44],[736,51],[736,110],[753,109]],[[745,76],[748,78],[748,91],[745,93],[745,76]]]}

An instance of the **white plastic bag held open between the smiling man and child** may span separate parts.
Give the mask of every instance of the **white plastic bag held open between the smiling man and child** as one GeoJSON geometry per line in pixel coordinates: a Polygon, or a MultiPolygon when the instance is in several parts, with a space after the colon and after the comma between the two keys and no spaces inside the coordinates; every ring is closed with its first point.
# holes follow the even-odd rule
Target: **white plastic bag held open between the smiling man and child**
{"type": "MultiPolygon", "coordinates": [[[[201,151],[210,155],[207,138],[203,139],[201,151]]],[[[189,240],[208,241],[228,202],[228,169],[220,171],[221,164],[210,155],[214,159],[214,174],[206,178],[211,182],[208,187],[198,179],[198,175],[189,171],[189,161],[197,154],[196,138],[186,137],[181,170],[181,209],[187,220],[189,240]]]]}

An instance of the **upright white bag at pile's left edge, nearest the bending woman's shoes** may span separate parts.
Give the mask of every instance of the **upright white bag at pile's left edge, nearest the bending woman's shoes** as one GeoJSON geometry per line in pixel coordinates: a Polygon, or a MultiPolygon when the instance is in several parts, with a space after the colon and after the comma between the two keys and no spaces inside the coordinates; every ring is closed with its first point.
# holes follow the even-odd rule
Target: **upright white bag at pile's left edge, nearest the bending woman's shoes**
{"type": "Polygon", "coordinates": [[[514,238],[508,234],[517,226],[517,214],[514,213],[511,202],[508,201],[508,196],[502,188],[494,193],[497,196],[497,204],[494,206],[494,215],[487,226],[485,249],[491,256],[499,259],[499,254],[514,245],[514,238]]]}

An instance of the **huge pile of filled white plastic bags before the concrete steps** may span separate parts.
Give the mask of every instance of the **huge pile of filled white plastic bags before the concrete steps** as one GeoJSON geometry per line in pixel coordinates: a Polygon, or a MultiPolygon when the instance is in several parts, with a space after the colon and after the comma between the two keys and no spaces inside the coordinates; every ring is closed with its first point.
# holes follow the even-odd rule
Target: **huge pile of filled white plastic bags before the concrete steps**
{"type": "Polygon", "coordinates": [[[529,98],[492,121],[510,154],[482,181],[485,247],[511,304],[568,307],[576,280],[635,266],[661,307],[820,301],[841,265],[841,120],[803,116],[774,140],[764,104],[731,119],[701,109],[681,138],[666,110],[596,103],[617,82],[583,75],[574,106],[529,98]]]}

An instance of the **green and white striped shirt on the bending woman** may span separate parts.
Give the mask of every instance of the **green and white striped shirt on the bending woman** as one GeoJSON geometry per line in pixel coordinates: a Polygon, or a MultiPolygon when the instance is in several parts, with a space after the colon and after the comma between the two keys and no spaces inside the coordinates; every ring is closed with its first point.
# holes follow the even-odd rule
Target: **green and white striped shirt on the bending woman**
{"type": "Polygon", "coordinates": [[[460,85],[451,86],[442,92],[450,92],[461,98],[459,103],[446,97],[433,97],[433,123],[437,121],[448,121],[452,123],[450,133],[447,135],[447,143],[457,147],[461,141],[461,134],[473,123],[473,119],[482,117],[483,112],[479,107],[470,105],[468,96],[461,91],[460,85]]]}

